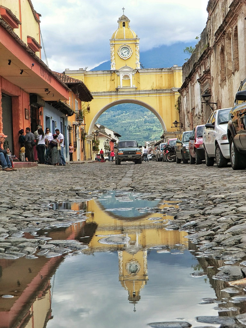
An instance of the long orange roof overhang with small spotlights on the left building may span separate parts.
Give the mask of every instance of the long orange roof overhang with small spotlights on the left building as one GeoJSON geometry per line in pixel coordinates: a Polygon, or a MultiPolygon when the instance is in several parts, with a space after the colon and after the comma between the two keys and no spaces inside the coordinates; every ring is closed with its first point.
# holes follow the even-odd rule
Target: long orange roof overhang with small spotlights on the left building
{"type": "Polygon", "coordinates": [[[0,75],[45,101],[68,100],[69,87],[59,81],[10,26],[0,19],[0,75]],[[10,65],[8,65],[11,60],[10,65]],[[22,72],[22,74],[20,74],[22,72]]]}

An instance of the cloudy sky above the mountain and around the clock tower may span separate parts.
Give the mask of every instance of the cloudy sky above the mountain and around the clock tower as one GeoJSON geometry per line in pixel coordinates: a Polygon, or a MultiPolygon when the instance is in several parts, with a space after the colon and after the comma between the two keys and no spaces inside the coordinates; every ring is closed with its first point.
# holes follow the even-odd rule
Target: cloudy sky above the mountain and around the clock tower
{"type": "MultiPolygon", "coordinates": [[[[32,0],[52,70],[88,70],[110,59],[109,39],[125,15],[140,38],[140,51],[194,42],[206,24],[208,0],[32,0]]],[[[45,62],[44,55],[42,56],[45,62]]]]}

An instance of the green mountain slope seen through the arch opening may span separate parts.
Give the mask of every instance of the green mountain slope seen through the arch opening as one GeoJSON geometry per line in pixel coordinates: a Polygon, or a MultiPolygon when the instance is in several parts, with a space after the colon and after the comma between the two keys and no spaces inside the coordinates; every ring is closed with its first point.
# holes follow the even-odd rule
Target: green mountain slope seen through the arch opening
{"type": "Polygon", "coordinates": [[[121,134],[120,140],[144,141],[159,140],[163,129],[158,118],[147,108],[126,103],[109,108],[97,120],[107,128],[121,134]]]}

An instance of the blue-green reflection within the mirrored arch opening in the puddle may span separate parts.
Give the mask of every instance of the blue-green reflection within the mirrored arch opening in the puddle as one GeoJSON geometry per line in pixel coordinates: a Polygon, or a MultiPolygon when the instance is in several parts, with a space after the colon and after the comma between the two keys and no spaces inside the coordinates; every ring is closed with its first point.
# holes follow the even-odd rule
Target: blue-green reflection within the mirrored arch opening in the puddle
{"type": "Polygon", "coordinates": [[[98,201],[107,212],[112,212],[121,217],[137,217],[146,213],[145,207],[155,207],[160,200],[146,200],[138,198],[140,194],[112,191],[102,194],[98,201]],[[137,210],[141,209],[141,211],[137,210]]]}

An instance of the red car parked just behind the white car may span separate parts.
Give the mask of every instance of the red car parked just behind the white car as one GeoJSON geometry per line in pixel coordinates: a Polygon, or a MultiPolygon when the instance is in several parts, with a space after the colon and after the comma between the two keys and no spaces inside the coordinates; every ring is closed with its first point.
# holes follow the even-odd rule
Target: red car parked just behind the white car
{"type": "Polygon", "coordinates": [[[191,164],[201,164],[202,160],[205,159],[203,139],[202,139],[204,129],[205,129],[205,124],[197,125],[191,133],[190,141],[189,141],[191,164]]]}

